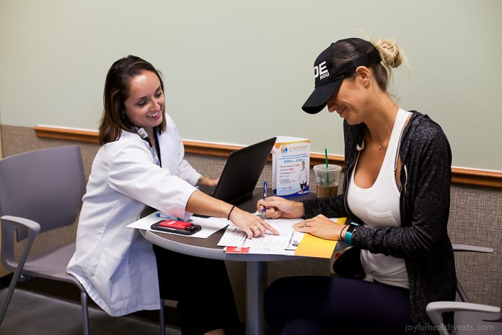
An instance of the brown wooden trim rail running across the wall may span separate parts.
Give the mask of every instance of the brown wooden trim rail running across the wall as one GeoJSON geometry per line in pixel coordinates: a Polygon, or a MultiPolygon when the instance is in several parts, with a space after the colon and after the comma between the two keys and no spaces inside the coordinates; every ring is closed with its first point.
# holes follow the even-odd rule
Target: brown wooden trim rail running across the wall
{"type": "MultiPolygon", "coordinates": [[[[66,129],[52,126],[35,126],[34,131],[39,138],[56,138],[60,140],[76,140],[87,143],[98,143],[98,131],[66,129]]],[[[185,144],[185,152],[187,153],[216,157],[228,157],[230,152],[238,150],[242,147],[237,145],[223,145],[192,140],[185,140],[183,143],[185,144]]],[[[343,156],[329,155],[328,161],[330,164],[344,166],[343,156]]],[[[324,155],[316,153],[310,154],[310,166],[324,164],[325,162],[326,159],[324,155]]],[[[502,188],[502,172],[452,167],[451,182],[465,185],[502,188]]]]}

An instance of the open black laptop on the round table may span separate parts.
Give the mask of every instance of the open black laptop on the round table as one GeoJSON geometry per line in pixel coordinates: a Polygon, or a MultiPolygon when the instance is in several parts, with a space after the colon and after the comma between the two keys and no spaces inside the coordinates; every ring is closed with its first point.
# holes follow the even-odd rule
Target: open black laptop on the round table
{"type": "Polygon", "coordinates": [[[231,152],[216,187],[202,185],[199,190],[229,204],[250,199],[275,140],[276,137],[272,137],[231,152]]]}

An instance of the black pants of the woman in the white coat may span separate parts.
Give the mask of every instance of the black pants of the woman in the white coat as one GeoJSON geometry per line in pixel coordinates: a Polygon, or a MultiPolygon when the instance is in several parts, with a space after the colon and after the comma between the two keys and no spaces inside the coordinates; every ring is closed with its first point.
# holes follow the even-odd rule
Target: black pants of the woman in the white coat
{"type": "Polygon", "coordinates": [[[212,329],[239,334],[239,315],[225,261],[178,254],[154,245],[160,296],[178,301],[183,335],[212,329]]]}

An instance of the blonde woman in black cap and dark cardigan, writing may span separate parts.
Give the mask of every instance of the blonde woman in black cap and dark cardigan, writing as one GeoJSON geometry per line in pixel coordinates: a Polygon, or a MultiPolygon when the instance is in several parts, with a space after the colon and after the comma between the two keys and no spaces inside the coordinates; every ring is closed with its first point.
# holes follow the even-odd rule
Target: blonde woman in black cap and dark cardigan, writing
{"type": "Polygon", "coordinates": [[[296,230],[353,247],[336,277],[286,277],[265,294],[270,334],[435,334],[425,307],[455,300],[447,234],[451,150],[427,115],[392,100],[394,41],[342,39],[315,60],[310,114],[343,117],[345,178],[336,197],[293,202],[267,197],[267,218],[305,218],[296,230]],[[347,217],[347,225],[329,218],[347,217]],[[302,301],[298,304],[298,301],[302,301]]]}

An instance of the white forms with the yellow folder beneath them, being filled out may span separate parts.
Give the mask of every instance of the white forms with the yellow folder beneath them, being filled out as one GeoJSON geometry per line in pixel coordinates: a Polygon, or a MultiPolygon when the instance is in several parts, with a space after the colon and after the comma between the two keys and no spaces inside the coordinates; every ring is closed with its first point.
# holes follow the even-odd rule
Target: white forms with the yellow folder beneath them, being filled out
{"type": "MultiPolygon", "coordinates": [[[[344,224],[346,218],[331,218],[344,224]]],[[[263,237],[246,238],[246,234],[235,227],[227,226],[218,246],[225,247],[227,254],[277,254],[331,258],[337,241],[322,239],[304,232],[297,232],[293,224],[303,219],[267,219],[267,223],[279,231],[279,235],[265,232],[263,237]]]]}

